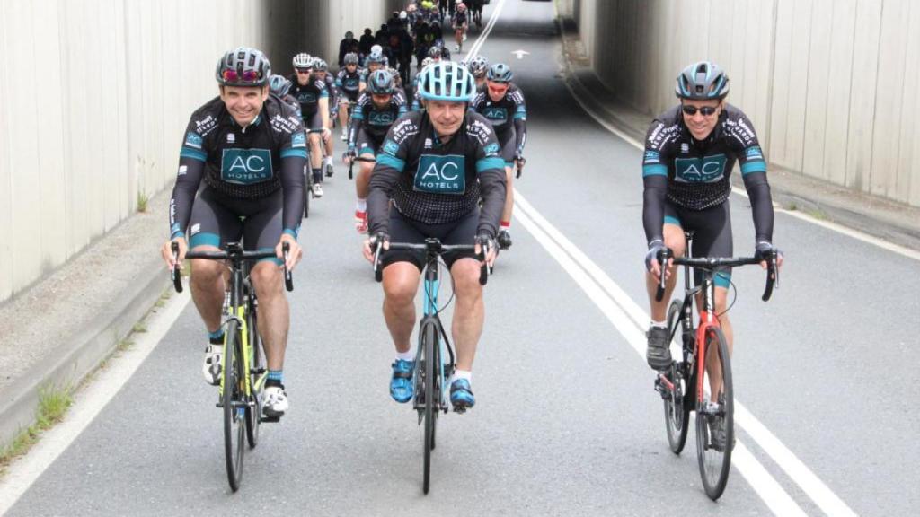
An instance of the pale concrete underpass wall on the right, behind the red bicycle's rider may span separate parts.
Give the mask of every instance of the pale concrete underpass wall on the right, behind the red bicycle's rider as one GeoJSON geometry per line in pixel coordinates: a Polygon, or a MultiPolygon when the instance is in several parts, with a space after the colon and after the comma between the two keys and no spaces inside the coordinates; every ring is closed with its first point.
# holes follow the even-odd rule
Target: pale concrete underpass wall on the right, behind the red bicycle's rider
{"type": "Polygon", "coordinates": [[[920,3],[567,2],[618,98],[657,114],[680,70],[710,59],[773,166],[920,206],[920,3]]]}

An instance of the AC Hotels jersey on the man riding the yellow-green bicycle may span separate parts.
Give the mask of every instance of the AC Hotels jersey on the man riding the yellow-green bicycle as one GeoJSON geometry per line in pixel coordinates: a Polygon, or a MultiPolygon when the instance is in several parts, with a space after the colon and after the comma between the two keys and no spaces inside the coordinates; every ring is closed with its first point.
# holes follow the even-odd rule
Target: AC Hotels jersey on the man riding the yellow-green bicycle
{"type": "Polygon", "coordinates": [[[169,201],[170,238],[185,236],[201,179],[229,199],[262,200],[283,189],[284,233],[297,235],[304,213],[304,125],[293,107],[269,96],[247,127],[213,98],[191,115],[169,201]]]}

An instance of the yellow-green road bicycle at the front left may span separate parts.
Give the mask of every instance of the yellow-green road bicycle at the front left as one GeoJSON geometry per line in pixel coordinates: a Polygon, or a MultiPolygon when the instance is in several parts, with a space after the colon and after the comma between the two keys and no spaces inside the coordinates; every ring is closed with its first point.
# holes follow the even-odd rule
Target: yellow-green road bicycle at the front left
{"type": "MultiPolygon", "coordinates": [[[[284,243],[286,263],[289,252],[284,243]]],[[[178,243],[172,245],[173,257],[178,261],[178,243]]],[[[247,442],[250,449],[259,443],[262,422],[277,422],[262,415],[263,391],[268,377],[265,353],[259,340],[259,300],[249,279],[249,266],[259,259],[275,257],[274,249],[245,251],[241,243],[228,243],[222,251],[190,251],[186,259],[221,260],[227,264],[230,281],[224,293],[224,310],[221,327],[224,329],[224,364],[220,385],[217,388],[217,407],[224,415],[224,458],[230,489],[239,489],[243,479],[243,457],[247,442]]],[[[173,286],[182,292],[182,279],[178,268],[172,270],[173,286]]],[[[291,271],[284,268],[284,286],[293,290],[291,271]]]]}

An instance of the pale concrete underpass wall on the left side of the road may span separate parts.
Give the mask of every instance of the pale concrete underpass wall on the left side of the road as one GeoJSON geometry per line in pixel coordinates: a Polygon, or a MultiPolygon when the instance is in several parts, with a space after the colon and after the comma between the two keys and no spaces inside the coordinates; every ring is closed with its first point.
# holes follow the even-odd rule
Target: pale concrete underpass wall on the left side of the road
{"type": "Polygon", "coordinates": [[[170,187],[223,52],[255,46],[289,74],[293,53],[334,61],[345,30],[377,28],[401,5],[0,2],[0,303],[135,213],[139,193],[170,187]]]}

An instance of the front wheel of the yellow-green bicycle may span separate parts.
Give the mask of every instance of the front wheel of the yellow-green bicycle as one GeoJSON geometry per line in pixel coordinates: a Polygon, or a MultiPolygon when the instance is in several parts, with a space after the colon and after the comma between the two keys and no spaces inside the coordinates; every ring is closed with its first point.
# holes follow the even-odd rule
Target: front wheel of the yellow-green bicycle
{"type": "Polygon", "coordinates": [[[224,392],[221,401],[224,406],[224,456],[227,465],[227,480],[230,489],[236,492],[243,478],[243,446],[246,438],[246,411],[242,404],[243,362],[239,324],[230,320],[226,329],[224,344],[224,392]]]}

